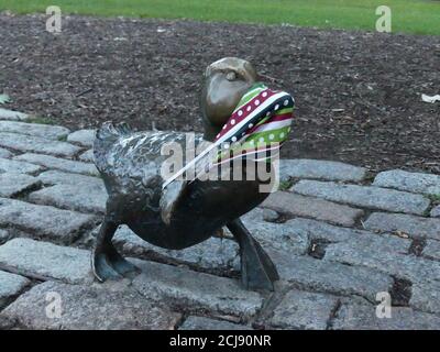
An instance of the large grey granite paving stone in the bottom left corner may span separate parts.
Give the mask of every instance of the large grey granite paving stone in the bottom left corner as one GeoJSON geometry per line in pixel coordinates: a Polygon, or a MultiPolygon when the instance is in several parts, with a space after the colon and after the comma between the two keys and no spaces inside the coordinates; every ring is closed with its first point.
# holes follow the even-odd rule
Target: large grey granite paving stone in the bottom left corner
{"type": "Polygon", "coordinates": [[[127,285],[47,282],[20,296],[0,318],[31,330],[172,330],[182,315],[145,300],[127,285]]]}

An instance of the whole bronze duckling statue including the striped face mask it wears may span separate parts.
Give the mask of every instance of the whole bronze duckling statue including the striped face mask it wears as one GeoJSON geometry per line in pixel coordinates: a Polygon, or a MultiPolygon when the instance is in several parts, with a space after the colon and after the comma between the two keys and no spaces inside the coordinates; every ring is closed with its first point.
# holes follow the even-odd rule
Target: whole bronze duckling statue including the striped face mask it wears
{"type": "Polygon", "coordinates": [[[95,276],[102,282],[139,273],[112,244],[121,224],[148,243],[168,250],[187,249],[227,227],[240,248],[243,286],[274,290],[277,270],[240,217],[270,195],[262,191],[261,186],[271,183],[276,170],[271,158],[261,157],[261,152],[272,153],[275,148],[271,143],[280,145],[287,139],[293,107],[288,94],[273,91],[257,82],[256,72],[249,62],[227,57],[209,65],[205,73],[202,135],[191,134],[190,140],[189,134],[183,132],[134,132],[124,123],[105,123],[98,129],[94,143],[95,164],[109,198],[91,256],[95,276]],[[172,177],[165,177],[163,165],[169,155],[164,155],[163,147],[169,143],[179,145],[183,151],[202,146],[204,152],[186,161],[172,177]],[[266,144],[271,146],[263,147],[266,144]],[[216,150],[212,161],[205,152],[218,146],[221,147],[219,152],[216,150]],[[248,168],[237,168],[233,163],[228,172],[231,176],[239,172],[242,177],[202,179],[200,169],[207,172],[227,163],[231,165],[235,157],[230,156],[230,151],[235,147],[240,147],[240,158],[253,157],[250,163],[254,169],[268,168],[271,178],[248,177],[248,168]],[[195,177],[178,178],[186,176],[191,165],[197,166],[195,177]]]}

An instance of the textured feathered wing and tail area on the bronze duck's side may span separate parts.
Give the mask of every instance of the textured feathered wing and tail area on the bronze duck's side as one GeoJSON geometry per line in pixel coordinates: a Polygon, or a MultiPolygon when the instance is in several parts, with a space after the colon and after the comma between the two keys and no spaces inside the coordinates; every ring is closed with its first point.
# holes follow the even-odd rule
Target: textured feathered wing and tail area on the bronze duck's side
{"type": "Polygon", "coordinates": [[[162,170],[164,163],[169,162],[170,157],[175,158],[175,169],[168,174],[177,172],[185,165],[185,157],[195,155],[202,142],[201,134],[134,132],[125,123],[113,125],[106,122],[96,133],[95,164],[110,197],[123,195],[124,202],[136,202],[136,199],[145,201],[144,197],[139,197],[144,195],[152,208],[162,210],[162,218],[168,223],[187,183],[175,180],[163,189],[166,180],[162,170]],[[180,161],[177,155],[179,151],[180,161]]]}

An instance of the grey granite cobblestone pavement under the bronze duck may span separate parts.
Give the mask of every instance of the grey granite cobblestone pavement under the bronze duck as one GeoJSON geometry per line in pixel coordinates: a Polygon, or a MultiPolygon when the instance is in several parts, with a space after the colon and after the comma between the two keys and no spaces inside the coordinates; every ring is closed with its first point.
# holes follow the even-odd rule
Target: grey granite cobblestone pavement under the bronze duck
{"type": "Polygon", "coordinates": [[[440,328],[438,175],[283,161],[284,190],[243,217],[278,267],[274,293],[241,288],[227,232],[167,251],[127,227],[114,242],[142,274],[99,284],[89,256],[107,195],[94,132],[2,109],[0,120],[2,329],[440,328]]]}

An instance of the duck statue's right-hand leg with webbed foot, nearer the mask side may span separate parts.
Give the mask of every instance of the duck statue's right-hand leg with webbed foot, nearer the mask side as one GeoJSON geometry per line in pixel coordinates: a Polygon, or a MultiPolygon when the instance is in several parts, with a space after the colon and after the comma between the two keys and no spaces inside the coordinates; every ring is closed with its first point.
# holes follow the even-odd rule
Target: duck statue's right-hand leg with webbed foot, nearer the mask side
{"type": "Polygon", "coordinates": [[[244,287],[274,290],[274,282],[279,279],[279,276],[271,257],[240,219],[228,223],[228,229],[240,245],[241,279],[244,287]]]}

